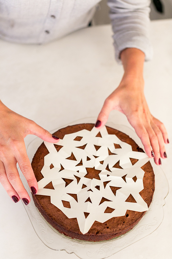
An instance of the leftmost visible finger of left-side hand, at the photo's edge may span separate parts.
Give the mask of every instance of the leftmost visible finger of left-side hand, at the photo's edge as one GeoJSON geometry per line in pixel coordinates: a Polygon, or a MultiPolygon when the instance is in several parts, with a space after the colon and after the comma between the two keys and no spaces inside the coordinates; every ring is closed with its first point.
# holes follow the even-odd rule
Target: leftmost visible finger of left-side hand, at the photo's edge
{"type": "Polygon", "coordinates": [[[6,190],[6,192],[8,193],[8,195],[10,196],[10,198],[15,203],[17,203],[20,200],[20,197],[19,197],[18,193],[14,190],[11,183],[9,182],[9,180],[6,176],[4,164],[1,160],[0,160],[0,182],[1,182],[2,186],[4,187],[4,189],[6,190]]]}

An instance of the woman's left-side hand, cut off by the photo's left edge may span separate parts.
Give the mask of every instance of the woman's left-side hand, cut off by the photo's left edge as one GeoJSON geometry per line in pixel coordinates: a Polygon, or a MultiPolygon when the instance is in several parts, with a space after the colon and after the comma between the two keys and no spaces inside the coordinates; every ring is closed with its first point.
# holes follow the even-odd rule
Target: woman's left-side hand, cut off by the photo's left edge
{"type": "Polygon", "coordinates": [[[15,203],[21,198],[25,205],[29,204],[30,197],[19,177],[17,162],[32,193],[35,195],[38,190],[25,148],[24,138],[28,134],[48,142],[59,140],[34,121],[11,111],[0,101],[0,182],[15,203]]]}

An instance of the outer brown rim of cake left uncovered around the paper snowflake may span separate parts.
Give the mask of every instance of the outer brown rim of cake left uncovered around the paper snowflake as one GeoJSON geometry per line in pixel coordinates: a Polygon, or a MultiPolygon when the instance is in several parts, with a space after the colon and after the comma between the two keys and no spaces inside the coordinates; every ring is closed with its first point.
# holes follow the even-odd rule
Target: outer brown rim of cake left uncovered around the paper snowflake
{"type": "MultiPolygon", "coordinates": [[[[91,131],[94,124],[77,124],[73,126],[68,126],[62,128],[54,133],[54,135],[58,136],[60,139],[63,139],[65,134],[74,133],[83,129],[87,129],[91,131]]],[[[115,130],[110,127],[106,127],[108,134],[115,134],[121,141],[124,141],[132,146],[133,151],[144,152],[139,146],[132,140],[128,135],[122,133],[118,130],[115,130]]],[[[56,149],[58,151],[59,146],[57,143],[56,149]]],[[[37,152],[34,155],[32,160],[32,168],[35,174],[37,181],[40,181],[43,178],[41,174],[41,170],[44,166],[44,156],[49,152],[45,147],[44,143],[38,148],[37,152]]],[[[134,159],[131,162],[134,162],[134,159]]],[[[149,207],[152,201],[155,184],[154,184],[154,173],[151,166],[151,163],[148,161],[142,169],[145,174],[143,177],[143,185],[144,189],[139,193],[144,201],[147,203],[149,207]]],[[[91,174],[92,172],[89,172],[91,174]]],[[[47,186],[47,188],[51,189],[51,186],[47,186]]],[[[113,217],[104,223],[100,223],[95,221],[88,233],[82,234],[80,232],[77,219],[71,218],[69,219],[59,208],[51,204],[50,196],[45,195],[33,195],[33,200],[43,215],[46,221],[49,222],[55,229],[57,229],[60,233],[67,235],[71,238],[76,238],[85,241],[102,241],[109,240],[125,234],[130,229],[132,229],[143,217],[146,212],[136,212],[127,210],[126,214],[121,217],[113,217]]],[[[130,202],[130,200],[128,200],[130,202]]]]}

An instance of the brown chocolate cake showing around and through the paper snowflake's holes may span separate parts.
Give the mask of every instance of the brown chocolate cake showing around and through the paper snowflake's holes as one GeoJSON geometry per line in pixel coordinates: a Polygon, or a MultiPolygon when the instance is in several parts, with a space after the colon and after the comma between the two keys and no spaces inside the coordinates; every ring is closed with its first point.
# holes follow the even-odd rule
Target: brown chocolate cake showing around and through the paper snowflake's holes
{"type": "MultiPolygon", "coordinates": [[[[91,131],[93,129],[93,127],[94,127],[93,124],[78,124],[78,125],[73,125],[73,126],[68,126],[68,127],[62,128],[62,129],[58,130],[57,132],[55,132],[53,134],[58,136],[60,138],[60,140],[63,140],[63,138],[66,134],[79,132],[79,131],[84,130],[84,129],[87,130],[87,131],[91,131]]],[[[135,141],[132,140],[128,135],[126,135],[126,134],[124,134],[124,133],[122,133],[118,130],[115,130],[113,128],[107,127],[107,126],[106,126],[106,130],[107,130],[109,135],[114,134],[122,142],[125,142],[125,143],[128,143],[129,145],[131,145],[132,151],[144,152],[143,149],[140,148],[135,143],[135,141]]],[[[101,138],[100,132],[96,135],[96,137],[101,138]]],[[[81,136],[76,136],[76,138],[74,140],[77,143],[77,141],[79,142],[79,141],[81,141],[81,139],[82,139],[81,136]]],[[[119,150],[121,148],[119,144],[115,144],[115,143],[113,143],[113,144],[115,146],[115,150],[119,150]]],[[[54,145],[57,152],[59,152],[59,150],[63,147],[62,145],[59,144],[59,142],[57,142],[56,144],[52,144],[52,145],[54,145]]],[[[80,149],[80,150],[83,150],[85,148],[85,146],[86,145],[81,145],[81,146],[78,146],[77,148],[80,149]]],[[[96,152],[97,152],[97,150],[100,147],[98,145],[94,145],[94,146],[95,146],[95,149],[96,149],[96,152]]],[[[55,152],[56,152],[56,150],[55,150],[55,152]]],[[[48,154],[49,154],[48,149],[46,148],[45,144],[42,143],[41,146],[37,149],[37,151],[34,155],[34,158],[32,160],[32,168],[33,168],[35,177],[37,179],[37,182],[41,181],[44,178],[43,174],[41,173],[41,170],[43,169],[43,166],[44,166],[44,157],[48,154]]],[[[112,150],[110,150],[108,148],[108,155],[110,157],[112,157],[112,156],[115,157],[116,154],[115,154],[115,152],[112,152],[112,150]]],[[[93,156],[95,157],[95,161],[98,161],[98,160],[96,160],[96,159],[99,159],[98,156],[95,156],[95,155],[93,155],[93,156]]],[[[77,168],[82,169],[82,159],[81,159],[81,161],[76,161],[74,152],[72,152],[71,156],[69,156],[66,159],[75,161],[76,162],[75,166],[77,166],[77,168]]],[[[91,159],[92,159],[91,157],[87,156],[87,160],[91,160],[91,159]]],[[[131,161],[131,167],[133,166],[133,168],[135,168],[134,165],[137,163],[138,159],[130,158],[130,161],[131,161]]],[[[98,163],[100,163],[100,167],[101,167],[101,165],[103,166],[104,161],[99,161],[98,163]]],[[[61,168],[59,167],[58,171],[59,171],[59,173],[62,174],[63,170],[65,172],[65,168],[62,166],[61,163],[60,163],[60,166],[61,166],[61,168]]],[[[50,167],[50,171],[54,170],[53,164],[50,164],[49,167],[50,167]]],[[[113,168],[115,168],[116,172],[117,171],[121,172],[122,167],[120,166],[120,161],[117,161],[115,163],[115,165],[113,166],[113,168]],[[119,170],[117,170],[117,169],[119,169],[119,170]]],[[[101,170],[97,170],[97,169],[95,169],[95,167],[89,167],[89,168],[86,168],[86,169],[87,169],[87,174],[85,174],[85,176],[83,177],[84,180],[86,178],[87,180],[93,179],[95,181],[95,179],[97,179],[98,181],[100,181],[101,175],[99,173],[101,172],[101,170]]],[[[144,189],[139,192],[139,195],[142,197],[144,202],[147,204],[147,207],[149,207],[150,204],[151,204],[154,189],[155,189],[154,172],[153,172],[151,163],[149,161],[146,162],[141,167],[141,169],[144,171],[144,177],[143,177],[144,189]]],[[[107,179],[111,179],[110,175],[112,174],[112,169],[110,169],[110,167],[108,167],[108,164],[106,166],[106,169],[103,170],[103,172],[106,172],[107,179]]],[[[78,186],[79,181],[81,179],[81,176],[80,175],[77,176],[77,173],[79,174],[79,170],[76,171],[76,173],[74,175],[75,176],[74,179],[76,178],[75,181],[77,181],[76,185],[78,186]]],[[[121,178],[122,178],[122,181],[124,181],[124,184],[126,184],[127,181],[128,181],[128,180],[126,181],[127,175],[125,174],[121,178]]],[[[62,179],[61,181],[64,183],[64,188],[66,188],[66,186],[70,186],[72,181],[74,183],[74,180],[70,179],[70,177],[68,177],[68,178],[67,177],[61,177],[60,179],[62,179]]],[[[136,181],[138,181],[136,176],[132,177],[131,179],[133,181],[133,184],[135,184],[136,181]]],[[[131,179],[129,179],[130,182],[131,182],[131,179]]],[[[91,181],[91,180],[89,180],[89,181],[91,181]]],[[[43,189],[44,190],[49,189],[53,192],[54,186],[53,186],[52,182],[53,182],[53,180],[49,181],[49,183],[46,184],[46,186],[44,186],[43,189]]],[[[111,180],[103,182],[103,185],[104,185],[104,187],[103,187],[104,189],[105,188],[111,188],[112,195],[114,195],[114,196],[117,195],[117,193],[120,193],[120,191],[121,191],[120,186],[119,187],[118,186],[117,187],[111,186],[112,185],[111,180]]],[[[86,190],[87,186],[86,187],[85,186],[86,186],[85,184],[82,185],[82,188],[81,188],[82,191],[83,191],[84,188],[86,190]]],[[[96,189],[100,190],[100,185],[94,186],[94,188],[87,190],[87,192],[91,193],[91,195],[93,195],[92,194],[93,192],[98,193],[98,191],[96,189]]],[[[74,202],[76,204],[79,202],[79,200],[77,200],[77,194],[74,194],[74,193],[67,193],[67,194],[70,196],[70,198],[72,197],[71,199],[74,199],[74,202]]],[[[91,196],[89,196],[88,199],[85,202],[87,202],[87,204],[92,205],[93,200],[91,202],[90,197],[91,196]]],[[[115,198],[116,198],[116,196],[115,196],[115,198]]],[[[33,196],[33,200],[34,200],[34,203],[35,203],[36,207],[38,208],[40,213],[43,215],[45,220],[48,221],[49,224],[51,224],[60,233],[63,233],[64,235],[67,235],[71,238],[76,238],[76,239],[86,240],[86,241],[109,240],[109,239],[115,238],[117,236],[120,236],[122,234],[125,234],[130,229],[132,229],[139,222],[139,220],[144,216],[144,214],[146,213],[146,210],[139,212],[139,211],[127,209],[126,213],[124,215],[119,216],[119,217],[109,218],[108,220],[106,220],[103,223],[95,220],[93,222],[93,224],[91,225],[91,227],[89,228],[89,231],[87,233],[83,234],[80,231],[80,227],[79,227],[77,218],[76,217],[68,218],[65,215],[65,213],[62,212],[62,210],[60,210],[60,208],[58,208],[57,206],[55,206],[51,203],[51,197],[50,196],[37,194],[37,195],[33,196]]],[[[108,199],[107,197],[102,197],[100,204],[104,203],[104,202],[106,204],[108,204],[108,201],[112,202],[112,200],[108,199]]],[[[64,206],[65,210],[70,210],[71,205],[70,205],[69,201],[65,200],[65,198],[64,198],[64,200],[61,199],[61,202],[62,202],[62,205],[64,206]]],[[[128,196],[128,198],[125,200],[125,202],[137,203],[135,198],[131,194],[128,196]]],[[[106,215],[110,215],[110,213],[113,213],[114,210],[115,210],[115,208],[112,208],[112,206],[107,206],[104,213],[107,213],[106,215]]],[[[87,219],[89,214],[90,214],[89,212],[84,212],[85,219],[87,219]]]]}

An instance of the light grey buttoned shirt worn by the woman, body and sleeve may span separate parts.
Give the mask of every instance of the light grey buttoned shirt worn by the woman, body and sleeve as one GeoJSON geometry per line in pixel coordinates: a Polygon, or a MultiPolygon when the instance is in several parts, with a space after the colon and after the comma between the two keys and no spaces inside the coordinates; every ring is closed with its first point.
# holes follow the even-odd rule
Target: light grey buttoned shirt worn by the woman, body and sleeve
{"type": "MultiPolygon", "coordinates": [[[[100,0],[0,0],[0,38],[43,44],[87,27],[100,0]]],[[[116,60],[127,47],[152,57],[148,39],[150,0],[108,0],[116,60]]]]}

